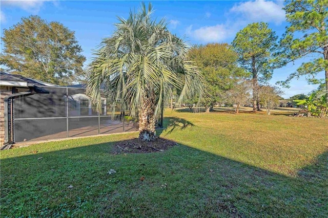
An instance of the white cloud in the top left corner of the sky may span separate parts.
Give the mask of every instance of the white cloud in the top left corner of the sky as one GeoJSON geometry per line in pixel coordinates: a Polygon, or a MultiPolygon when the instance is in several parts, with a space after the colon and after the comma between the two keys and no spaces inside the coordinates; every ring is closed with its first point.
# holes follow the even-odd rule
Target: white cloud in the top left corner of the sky
{"type": "Polygon", "coordinates": [[[28,12],[37,13],[47,1],[49,0],[2,1],[1,3],[3,7],[18,7],[28,12]]]}

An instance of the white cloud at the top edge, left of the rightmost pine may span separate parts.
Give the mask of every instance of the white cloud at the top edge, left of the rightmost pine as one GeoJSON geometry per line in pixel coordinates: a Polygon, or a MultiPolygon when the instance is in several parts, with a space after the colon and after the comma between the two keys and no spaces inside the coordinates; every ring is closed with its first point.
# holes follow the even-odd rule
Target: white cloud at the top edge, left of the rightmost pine
{"type": "Polygon", "coordinates": [[[272,1],[250,1],[235,5],[230,12],[241,13],[244,18],[250,21],[273,21],[276,25],[285,20],[283,2],[272,1]]]}

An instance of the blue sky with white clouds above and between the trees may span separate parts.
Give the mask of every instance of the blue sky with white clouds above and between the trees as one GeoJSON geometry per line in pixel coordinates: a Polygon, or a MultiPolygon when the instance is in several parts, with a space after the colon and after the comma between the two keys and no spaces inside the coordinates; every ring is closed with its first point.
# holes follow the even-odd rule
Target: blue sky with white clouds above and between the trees
{"type": "MultiPolygon", "coordinates": [[[[278,36],[288,25],[282,10],[283,1],[154,1],[152,4],[154,17],[165,17],[170,22],[170,31],[185,38],[190,45],[230,43],[239,30],[257,21],[269,23],[278,36]]],[[[116,16],[126,18],[130,9],[138,10],[139,6],[139,1],[1,1],[1,35],[3,29],[32,14],[48,21],[59,21],[75,31],[87,64],[101,39],[113,33],[116,16]]],[[[308,59],[275,70],[270,83],[286,79],[308,59]]],[[[319,78],[323,77],[321,73],[319,78]]],[[[304,78],[293,80],[290,89],[282,89],[283,97],[308,94],[316,88],[317,85],[308,84],[304,78]]]]}

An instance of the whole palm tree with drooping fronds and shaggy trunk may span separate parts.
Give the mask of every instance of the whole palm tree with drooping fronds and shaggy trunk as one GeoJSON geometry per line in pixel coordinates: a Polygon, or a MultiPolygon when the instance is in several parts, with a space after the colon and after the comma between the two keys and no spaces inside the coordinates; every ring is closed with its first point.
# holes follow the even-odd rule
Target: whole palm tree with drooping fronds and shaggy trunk
{"type": "MultiPolygon", "coordinates": [[[[118,18],[112,37],[104,38],[89,64],[87,93],[100,107],[100,85],[114,107],[139,119],[139,139],[155,139],[155,124],[172,88],[180,101],[202,93],[202,78],[186,59],[186,42],[170,33],[165,19],[152,20],[153,7],[118,18]]],[[[113,107],[113,108],[114,108],[113,107]]]]}

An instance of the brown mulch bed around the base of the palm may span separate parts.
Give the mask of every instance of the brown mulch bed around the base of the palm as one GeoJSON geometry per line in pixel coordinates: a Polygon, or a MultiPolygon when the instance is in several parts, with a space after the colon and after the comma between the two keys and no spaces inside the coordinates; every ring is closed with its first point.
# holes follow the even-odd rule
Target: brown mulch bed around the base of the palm
{"type": "Polygon", "coordinates": [[[113,154],[160,152],[175,145],[177,145],[176,142],[162,138],[156,138],[150,142],[134,138],[117,142],[114,146],[113,154]]]}

